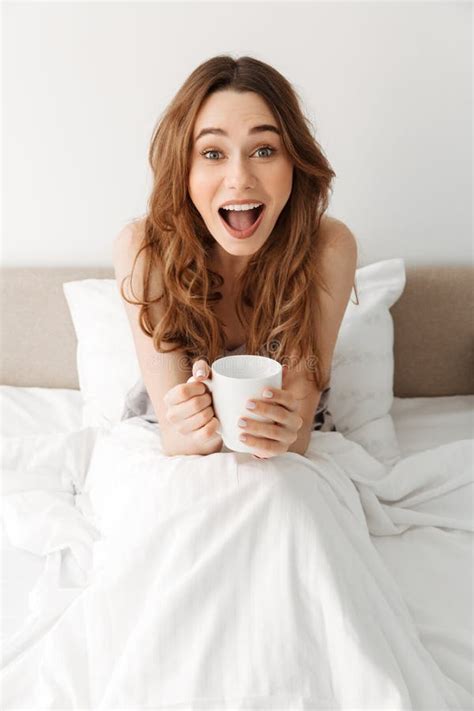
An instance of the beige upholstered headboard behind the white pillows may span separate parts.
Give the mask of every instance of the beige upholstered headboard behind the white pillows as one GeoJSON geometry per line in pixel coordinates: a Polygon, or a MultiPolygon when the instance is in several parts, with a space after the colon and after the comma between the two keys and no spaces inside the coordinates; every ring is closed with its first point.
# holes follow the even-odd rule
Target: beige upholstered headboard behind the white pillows
{"type": "MultiPolygon", "coordinates": [[[[0,275],[0,384],[78,388],[62,284],[113,279],[113,269],[3,267],[0,275]]],[[[407,265],[406,275],[391,310],[395,396],[474,394],[474,267],[407,265]]]]}

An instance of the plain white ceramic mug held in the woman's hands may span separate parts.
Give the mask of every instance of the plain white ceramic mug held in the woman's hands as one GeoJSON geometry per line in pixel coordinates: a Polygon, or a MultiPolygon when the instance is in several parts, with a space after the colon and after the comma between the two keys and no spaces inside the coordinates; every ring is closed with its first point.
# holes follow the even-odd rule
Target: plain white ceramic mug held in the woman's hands
{"type": "Polygon", "coordinates": [[[239,427],[240,417],[272,422],[268,417],[247,410],[249,399],[262,400],[266,385],[281,389],[282,367],[278,361],[265,356],[224,356],[214,361],[211,367],[212,380],[201,380],[212,393],[214,412],[221,426],[217,432],[225,446],[235,452],[252,452],[239,437],[245,432],[239,427]]]}

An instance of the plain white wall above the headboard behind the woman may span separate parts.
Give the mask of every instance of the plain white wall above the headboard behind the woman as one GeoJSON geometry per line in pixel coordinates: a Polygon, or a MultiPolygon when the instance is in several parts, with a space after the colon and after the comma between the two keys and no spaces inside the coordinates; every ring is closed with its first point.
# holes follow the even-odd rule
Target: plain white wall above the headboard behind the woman
{"type": "Polygon", "coordinates": [[[203,60],[273,64],[336,174],[359,264],[472,260],[470,2],[5,2],[5,266],[107,266],[159,113],[203,60]]]}

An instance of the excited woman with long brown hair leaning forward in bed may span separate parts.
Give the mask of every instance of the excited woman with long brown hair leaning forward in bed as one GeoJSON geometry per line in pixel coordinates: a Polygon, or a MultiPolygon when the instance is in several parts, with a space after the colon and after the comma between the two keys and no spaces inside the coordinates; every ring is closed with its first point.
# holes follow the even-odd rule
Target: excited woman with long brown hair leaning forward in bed
{"type": "Polygon", "coordinates": [[[200,381],[245,351],[285,366],[283,388],[251,410],[272,422],[243,418],[247,444],[263,458],[303,455],[312,430],[335,430],[328,381],[357,246],[323,215],[335,173],[295,90],[252,57],[214,57],[164,112],[149,158],[148,213],[115,242],[143,376],[123,419],[159,422],[169,455],[221,451],[200,381]]]}

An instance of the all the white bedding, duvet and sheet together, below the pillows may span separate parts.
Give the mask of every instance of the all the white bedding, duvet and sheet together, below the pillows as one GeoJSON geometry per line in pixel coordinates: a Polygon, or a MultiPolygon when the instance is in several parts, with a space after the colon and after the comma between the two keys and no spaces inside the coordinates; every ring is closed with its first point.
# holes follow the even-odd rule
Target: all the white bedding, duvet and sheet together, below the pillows
{"type": "MultiPolygon", "coordinates": [[[[163,460],[150,446],[149,430],[124,423],[112,439],[102,439],[102,431],[77,426],[78,391],[0,390],[7,441],[19,433],[40,435],[35,443],[40,449],[49,445],[56,472],[66,450],[81,451],[84,470],[84,452],[92,451],[100,435],[95,495],[102,486],[96,503],[107,504],[104,520],[95,523],[109,526],[110,533],[107,546],[95,536],[85,495],[47,493],[56,497],[54,550],[44,517],[25,533],[24,521],[12,514],[18,501],[16,509],[6,507],[15,542],[36,550],[43,545],[43,551],[50,545],[51,552],[48,570],[39,577],[44,558],[7,548],[9,569],[2,577],[7,602],[14,600],[16,610],[7,609],[5,618],[4,609],[10,624],[2,629],[9,638],[4,663],[10,662],[3,674],[4,708],[31,706],[25,679],[33,680],[40,658],[39,685],[31,688],[45,708],[78,708],[86,701],[94,708],[137,707],[138,697],[141,708],[156,708],[158,701],[170,708],[172,699],[182,701],[173,708],[205,709],[338,708],[341,699],[344,708],[472,707],[474,397],[395,398],[392,415],[402,452],[420,454],[402,460],[391,474],[338,433],[314,433],[306,463],[298,455],[250,463],[246,455],[219,454],[191,458],[185,466],[183,458],[173,458],[179,470],[161,468],[158,478],[150,472],[158,474],[157,461],[163,460]],[[30,411],[38,417],[29,419],[24,409],[39,402],[36,395],[46,407],[41,416],[34,404],[30,411]],[[51,448],[54,432],[61,436],[51,448]],[[68,439],[67,432],[74,435],[68,439]],[[123,520],[121,502],[128,516],[136,514],[125,537],[114,529],[115,518],[123,520]],[[68,517],[71,509],[74,516],[68,517]],[[407,523],[413,527],[404,530],[407,523]],[[12,551],[23,556],[16,568],[12,551]],[[40,564],[30,577],[19,572],[33,560],[40,564]],[[22,580],[24,604],[35,578],[30,605],[36,627],[31,617],[29,629],[12,635],[25,608],[20,610],[21,595],[11,581],[22,580]],[[119,606],[114,614],[113,604],[119,606]],[[149,634],[151,628],[156,635],[149,634]],[[97,670],[90,689],[88,669],[97,670]],[[144,689],[146,698],[140,696],[144,689]],[[201,699],[201,705],[191,705],[190,698],[201,699]]],[[[84,471],[76,474],[80,478],[84,471]]],[[[44,512],[39,495],[45,492],[20,496],[25,511],[36,506],[44,512]]]]}

